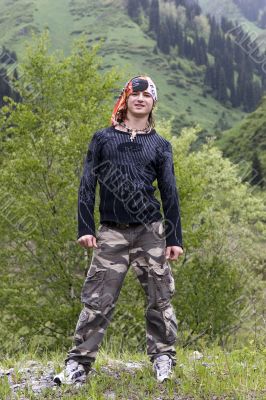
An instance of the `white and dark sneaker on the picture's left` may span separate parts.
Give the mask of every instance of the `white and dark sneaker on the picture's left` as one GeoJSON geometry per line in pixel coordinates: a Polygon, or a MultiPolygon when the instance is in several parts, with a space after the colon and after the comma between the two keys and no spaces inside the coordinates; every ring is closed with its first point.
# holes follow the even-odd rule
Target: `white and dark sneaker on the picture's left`
{"type": "Polygon", "coordinates": [[[86,380],[86,371],[82,364],[77,361],[68,360],[62,372],[54,376],[53,381],[57,385],[72,385],[73,383],[84,383],[86,380]]]}

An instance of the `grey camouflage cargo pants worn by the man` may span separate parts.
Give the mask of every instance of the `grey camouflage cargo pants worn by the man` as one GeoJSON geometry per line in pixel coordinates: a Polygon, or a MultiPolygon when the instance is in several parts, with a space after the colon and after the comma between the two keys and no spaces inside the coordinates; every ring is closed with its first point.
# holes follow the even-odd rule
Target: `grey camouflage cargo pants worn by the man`
{"type": "Polygon", "coordinates": [[[168,354],[176,365],[177,320],[170,302],[175,283],[165,258],[162,221],[125,229],[101,224],[96,239],[98,248],[93,248],[81,293],[84,307],[75,330],[75,346],[65,361],[74,359],[91,365],[95,360],[124,278],[132,266],[147,296],[146,342],[150,361],[168,354]]]}

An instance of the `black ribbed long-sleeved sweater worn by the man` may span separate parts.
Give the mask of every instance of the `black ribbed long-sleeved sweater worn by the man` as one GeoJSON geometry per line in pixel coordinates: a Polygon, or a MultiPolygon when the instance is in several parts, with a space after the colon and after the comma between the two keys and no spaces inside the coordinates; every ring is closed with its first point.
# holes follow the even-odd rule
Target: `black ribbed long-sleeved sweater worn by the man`
{"type": "Polygon", "coordinates": [[[171,143],[155,129],[130,134],[110,126],[94,133],[78,195],[78,238],[95,236],[94,205],[100,184],[100,223],[149,223],[162,220],[155,198],[157,179],[162,200],[166,246],[182,245],[179,197],[171,143]]]}

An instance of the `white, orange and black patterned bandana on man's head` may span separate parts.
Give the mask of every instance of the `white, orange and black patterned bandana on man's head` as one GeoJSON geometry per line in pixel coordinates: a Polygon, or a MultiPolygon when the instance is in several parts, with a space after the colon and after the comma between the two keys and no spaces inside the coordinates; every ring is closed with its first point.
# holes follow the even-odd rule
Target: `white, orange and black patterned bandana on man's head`
{"type": "Polygon", "coordinates": [[[133,92],[148,92],[153,98],[153,104],[157,101],[157,90],[154,82],[148,76],[135,76],[130,79],[123,88],[117,102],[115,103],[111,124],[117,125],[118,121],[122,119],[123,112],[126,110],[127,98],[133,92]]]}

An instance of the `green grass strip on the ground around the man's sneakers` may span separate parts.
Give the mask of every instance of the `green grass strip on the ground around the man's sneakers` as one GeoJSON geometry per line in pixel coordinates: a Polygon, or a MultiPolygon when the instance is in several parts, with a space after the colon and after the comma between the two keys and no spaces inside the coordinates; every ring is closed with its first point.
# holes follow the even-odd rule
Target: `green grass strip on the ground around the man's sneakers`
{"type": "MultiPolygon", "coordinates": [[[[56,391],[47,390],[40,397],[31,390],[19,392],[28,399],[75,399],[101,400],[108,398],[130,400],[154,399],[208,399],[208,400],[251,400],[265,399],[265,350],[243,348],[232,352],[221,348],[206,349],[203,358],[193,359],[192,350],[177,350],[177,365],[170,381],[159,384],[154,378],[152,366],[147,356],[143,354],[116,354],[102,349],[94,364],[96,373],[90,377],[87,384],[80,387],[61,387],[56,391]],[[116,361],[116,362],[115,362],[116,361]],[[140,362],[143,367],[129,372],[122,362],[140,362]],[[105,367],[105,369],[104,369],[105,367]],[[109,373],[107,373],[108,368],[109,373]],[[110,373],[111,372],[111,373],[110,373]],[[109,397],[111,398],[111,397],[109,397]]],[[[41,360],[43,365],[52,360],[58,372],[63,365],[64,354],[26,354],[16,359],[4,359],[0,368],[19,367],[26,360],[41,360]]],[[[16,372],[16,380],[20,376],[16,372]]],[[[10,395],[6,380],[2,380],[0,398],[8,399],[10,395]]]]}

